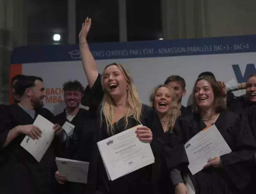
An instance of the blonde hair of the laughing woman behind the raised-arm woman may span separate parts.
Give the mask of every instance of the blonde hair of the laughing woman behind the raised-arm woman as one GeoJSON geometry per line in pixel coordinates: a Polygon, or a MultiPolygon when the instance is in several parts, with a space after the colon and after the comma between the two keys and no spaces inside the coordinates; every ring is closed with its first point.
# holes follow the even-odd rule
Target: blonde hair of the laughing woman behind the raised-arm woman
{"type": "Polygon", "coordinates": [[[154,101],[155,101],[155,93],[158,91],[158,89],[160,89],[161,87],[166,87],[167,89],[169,89],[171,91],[171,96],[172,96],[172,105],[170,110],[168,111],[167,115],[169,117],[169,123],[168,123],[168,129],[167,131],[169,131],[169,129],[173,129],[174,125],[175,125],[175,121],[177,119],[177,117],[180,116],[180,109],[178,108],[178,103],[177,103],[177,96],[175,95],[175,92],[173,91],[173,89],[168,86],[168,85],[158,85],[157,87],[155,87],[150,95],[150,106],[151,107],[155,107],[154,101]]]}

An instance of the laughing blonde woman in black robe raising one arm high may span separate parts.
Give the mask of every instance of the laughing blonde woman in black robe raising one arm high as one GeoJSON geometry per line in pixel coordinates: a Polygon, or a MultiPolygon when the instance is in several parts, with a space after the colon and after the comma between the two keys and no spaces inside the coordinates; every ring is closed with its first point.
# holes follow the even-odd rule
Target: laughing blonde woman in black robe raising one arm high
{"type": "Polygon", "coordinates": [[[96,110],[95,146],[90,161],[86,192],[153,194],[160,177],[158,153],[164,135],[161,122],[152,108],[140,102],[133,79],[123,65],[112,63],[104,68],[102,75],[98,73],[86,39],[90,27],[91,19],[86,18],[79,34],[81,60],[89,84],[84,93],[83,103],[96,110]],[[143,127],[139,127],[134,135],[138,137],[138,141],[150,143],[155,163],[109,181],[96,142],[138,124],[142,124],[143,127]]]}

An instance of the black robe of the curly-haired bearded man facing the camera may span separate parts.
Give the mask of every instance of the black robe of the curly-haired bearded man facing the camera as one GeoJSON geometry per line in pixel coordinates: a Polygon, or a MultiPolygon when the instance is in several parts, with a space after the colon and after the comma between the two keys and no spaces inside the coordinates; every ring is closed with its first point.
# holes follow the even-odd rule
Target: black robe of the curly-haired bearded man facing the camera
{"type": "MultiPolygon", "coordinates": [[[[60,125],[69,120],[66,119],[66,109],[55,116],[55,120],[60,125]]],[[[74,132],[71,137],[68,137],[65,142],[54,142],[54,150],[57,157],[68,158],[71,160],[83,160],[89,162],[91,158],[91,146],[94,140],[94,132],[91,130],[91,116],[90,111],[80,108],[79,112],[70,122],[75,126],[74,132]],[[80,147],[83,147],[83,151],[77,153],[80,147]],[[77,158],[77,155],[80,157],[77,158]]],[[[58,184],[57,193],[59,194],[81,194],[86,189],[86,184],[80,184],[75,182],[65,182],[64,184],[58,184]]]]}

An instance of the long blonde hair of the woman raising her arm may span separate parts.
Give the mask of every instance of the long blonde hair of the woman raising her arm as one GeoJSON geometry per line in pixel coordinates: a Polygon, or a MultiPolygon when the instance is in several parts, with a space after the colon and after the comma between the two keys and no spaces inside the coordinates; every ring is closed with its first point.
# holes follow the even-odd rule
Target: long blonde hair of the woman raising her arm
{"type": "Polygon", "coordinates": [[[108,68],[111,65],[116,65],[121,70],[128,84],[126,112],[124,115],[126,127],[128,125],[128,117],[133,117],[136,121],[140,123],[141,108],[142,108],[142,103],[140,101],[138,91],[136,90],[135,85],[133,83],[133,79],[130,75],[130,72],[123,65],[119,63],[111,63],[110,65],[107,65],[104,68],[102,77],[101,77],[101,85],[103,87],[103,91],[105,92],[103,101],[102,101],[102,106],[101,106],[101,124],[104,116],[106,120],[106,125],[107,125],[107,132],[109,135],[115,134],[114,126],[113,126],[115,104],[114,104],[113,98],[110,96],[110,94],[106,91],[106,89],[103,86],[103,83],[104,83],[103,79],[104,79],[104,72],[106,68],[108,68]]]}

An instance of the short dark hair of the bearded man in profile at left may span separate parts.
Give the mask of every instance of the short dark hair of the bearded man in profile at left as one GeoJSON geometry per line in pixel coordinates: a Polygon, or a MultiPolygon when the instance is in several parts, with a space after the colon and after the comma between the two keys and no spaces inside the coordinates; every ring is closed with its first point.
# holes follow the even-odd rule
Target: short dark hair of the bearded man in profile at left
{"type": "Polygon", "coordinates": [[[33,87],[35,84],[34,82],[37,80],[43,82],[43,79],[41,77],[36,76],[24,76],[22,77],[22,79],[18,79],[17,83],[14,86],[15,93],[20,97],[23,96],[26,89],[33,87]]]}

